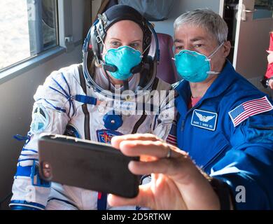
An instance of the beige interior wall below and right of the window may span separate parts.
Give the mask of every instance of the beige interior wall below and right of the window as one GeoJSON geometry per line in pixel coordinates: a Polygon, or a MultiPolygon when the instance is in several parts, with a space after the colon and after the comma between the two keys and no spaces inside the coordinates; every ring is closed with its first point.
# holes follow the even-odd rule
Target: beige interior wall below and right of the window
{"type": "MultiPolygon", "coordinates": [[[[84,26],[87,20],[91,20],[90,10],[89,13],[85,10],[87,2],[90,6],[90,0],[72,1],[74,43],[83,42],[84,26]],[[83,13],[84,11],[87,13],[83,13]]],[[[82,44],[76,46],[71,52],[64,52],[0,84],[0,200],[10,193],[18,156],[25,143],[16,141],[13,136],[15,134],[25,136],[29,131],[34,104],[33,96],[38,85],[42,85],[52,71],[82,62],[81,49],[82,44]]],[[[8,209],[8,201],[6,200],[0,209],[8,209]]]]}

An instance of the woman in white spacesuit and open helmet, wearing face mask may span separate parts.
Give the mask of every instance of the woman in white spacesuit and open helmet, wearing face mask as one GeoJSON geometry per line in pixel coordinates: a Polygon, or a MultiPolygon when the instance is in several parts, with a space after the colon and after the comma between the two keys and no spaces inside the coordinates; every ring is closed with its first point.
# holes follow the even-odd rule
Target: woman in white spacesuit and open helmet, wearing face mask
{"type": "Polygon", "coordinates": [[[12,209],[111,209],[107,195],[41,181],[38,136],[48,132],[110,143],[117,135],[153,133],[166,140],[173,130],[174,92],[155,77],[159,50],[157,43],[151,52],[152,38],[157,43],[153,27],[137,10],[113,6],[85,38],[83,63],[52,72],[38,87],[12,209]],[[162,90],[165,97],[157,94],[162,90]]]}

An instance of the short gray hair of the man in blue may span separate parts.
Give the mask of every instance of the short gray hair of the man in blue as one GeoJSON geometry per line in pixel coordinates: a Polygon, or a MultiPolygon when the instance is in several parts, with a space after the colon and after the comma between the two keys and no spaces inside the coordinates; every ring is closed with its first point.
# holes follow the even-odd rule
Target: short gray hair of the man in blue
{"type": "Polygon", "coordinates": [[[197,25],[204,27],[216,37],[219,44],[228,39],[228,25],[220,15],[207,8],[195,9],[183,13],[174,21],[174,31],[181,25],[197,25]]]}

